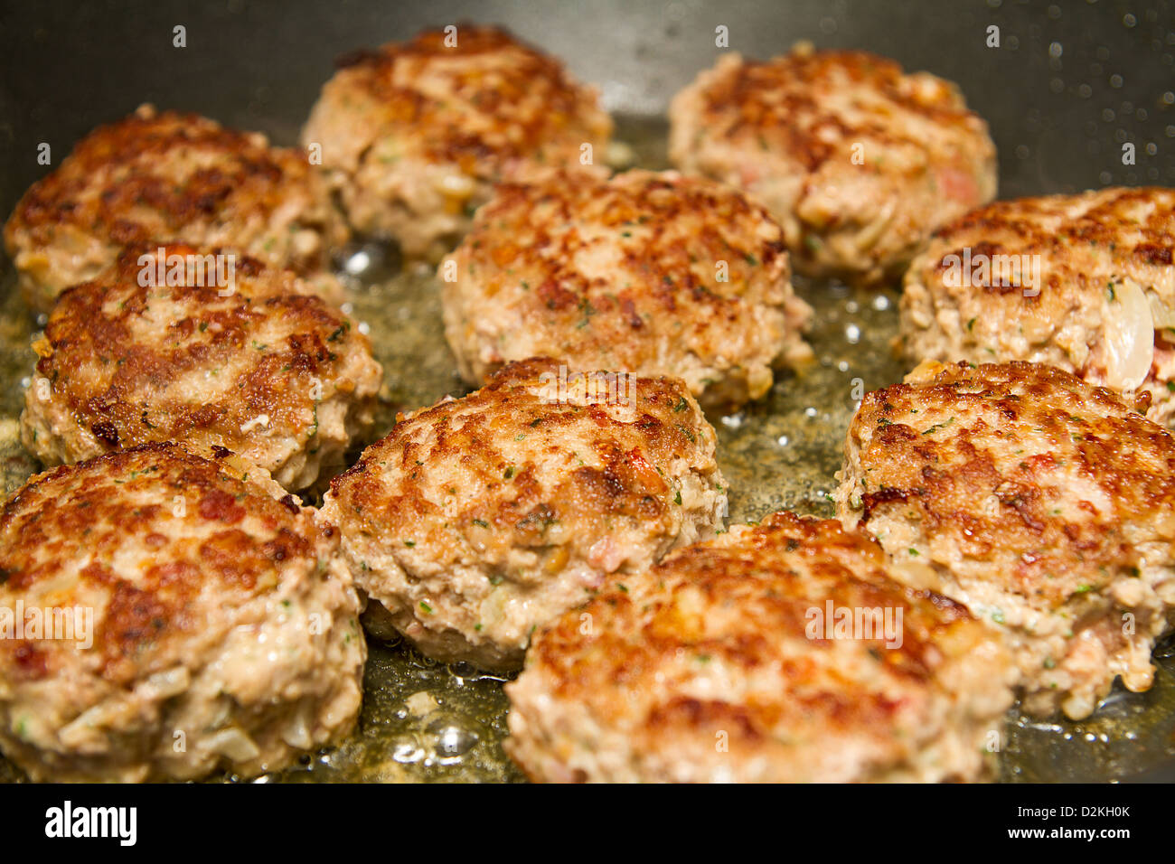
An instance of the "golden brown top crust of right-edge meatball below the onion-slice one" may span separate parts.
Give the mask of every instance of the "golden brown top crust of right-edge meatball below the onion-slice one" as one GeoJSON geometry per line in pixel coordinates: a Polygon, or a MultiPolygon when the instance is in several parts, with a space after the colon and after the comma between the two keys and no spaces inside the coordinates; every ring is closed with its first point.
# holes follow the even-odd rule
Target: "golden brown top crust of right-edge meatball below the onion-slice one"
{"type": "MultiPolygon", "coordinates": [[[[861,517],[914,508],[991,578],[1049,605],[1107,584],[1175,530],[1175,441],[1116,393],[1034,363],[924,367],[866,395],[861,517]],[[1067,487],[1077,482],[1081,500],[1067,487]],[[988,514],[985,503],[999,502],[988,514]]],[[[1175,550],[1173,550],[1175,551],[1175,550]]]]}

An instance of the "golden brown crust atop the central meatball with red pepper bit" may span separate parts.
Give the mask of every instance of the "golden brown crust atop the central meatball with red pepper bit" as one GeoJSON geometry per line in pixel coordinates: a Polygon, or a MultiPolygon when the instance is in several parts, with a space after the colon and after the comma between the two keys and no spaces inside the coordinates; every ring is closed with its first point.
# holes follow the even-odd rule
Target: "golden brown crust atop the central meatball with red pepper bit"
{"type": "MultiPolygon", "coordinates": [[[[555,380],[558,369],[558,362],[538,357],[510,363],[486,387],[462,400],[401,415],[387,437],[331,481],[331,491],[336,498],[345,496],[355,514],[362,514],[368,530],[404,537],[429,537],[450,528],[469,530],[485,522],[488,530],[505,531],[513,543],[543,545],[543,534],[552,522],[660,518],[670,487],[653,466],[667,468],[676,454],[699,442],[712,446],[713,428],[697,410],[690,410],[686,394],[672,379],[637,382],[636,422],[629,429],[616,424],[611,420],[615,411],[603,404],[549,404],[539,395],[540,377],[549,373],[555,380]],[[569,466],[557,490],[537,484],[537,467],[530,461],[519,464],[509,453],[531,449],[516,447],[519,436],[553,441],[564,430],[592,426],[600,429],[591,454],[592,462],[600,466],[569,466]],[[423,428],[430,430],[424,447],[414,441],[423,428]],[[503,447],[495,447],[495,442],[503,447]],[[484,488],[482,495],[470,496],[456,523],[446,518],[444,529],[436,523],[445,495],[427,482],[405,485],[394,498],[387,496],[382,482],[385,470],[423,478],[430,464],[455,460],[464,474],[463,495],[469,493],[470,482],[484,488]],[[506,494],[499,500],[502,493],[506,494]]],[[[583,456],[577,460],[584,461],[583,456]]]]}

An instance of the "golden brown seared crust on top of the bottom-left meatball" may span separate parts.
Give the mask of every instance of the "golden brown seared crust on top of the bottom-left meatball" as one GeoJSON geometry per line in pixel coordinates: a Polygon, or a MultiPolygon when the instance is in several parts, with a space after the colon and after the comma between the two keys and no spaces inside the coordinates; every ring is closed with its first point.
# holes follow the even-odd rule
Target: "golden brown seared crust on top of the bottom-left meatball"
{"type": "MultiPolygon", "coordinates": [[[[313,513],[258,484],[268,482],[263,473],[250,481],[242,464],[163,442],[36,475],[0,510],[0,605],[12,609],[20,597],[28,608],[66,608],[105,597],[98,674],[125,684],[166,668],[175,643],[210,627],[214,609],[201,595],[242,604],[318,552],[313,513]],[[181,520],[190,534],[175,541],[181,520]],[[128,536],[145,544],[133,580],[116,563],[128,536]],[[63,583],[62,572],[74,577],[63,583]]],[[[2,639],[0,651],[24,679],[73,662],[68,642],[2,639]]]]}

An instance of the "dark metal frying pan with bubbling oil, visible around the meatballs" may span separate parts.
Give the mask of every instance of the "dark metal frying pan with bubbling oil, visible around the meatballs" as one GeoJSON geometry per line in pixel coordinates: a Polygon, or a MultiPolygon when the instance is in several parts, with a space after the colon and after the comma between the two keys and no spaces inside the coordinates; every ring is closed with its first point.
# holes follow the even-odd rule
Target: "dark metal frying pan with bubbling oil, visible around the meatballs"
{"type": "MultiPolygon", "coordinates": [[[[94,126],[139,103],[194,110],[260,129],[278,143],[297,130],[331,74],[333,59],[462,20],[505,25],[599,85],[618,115],[618,138],[637,163],[665,165],[671,95],[713,63],[714,28],[752,56],[798,39],[857,47],[960,83],[991,123],[1000,153],[1000,195],[1075,192],[1104,185],[1175,186],[1175,7],[1013,0],[794,0],[557,4],[491,0],[388,4],[345,0],[160,4],[147,0],[5,4],[0,14],[0,215],[94,126]],[[173,28],[187,47],[173,47],[173,28]],[[1000,47],[988,47],[988,28],[1000,47]],[[1135,165],[1122,146],[1135,145],[1135,165]]],[[[396,409],[435,401],[461,386],[441,336],[431,279],[375,263],[355,294],[355,316],[371,327],[396,409]],[[411,327],[403,322],[410,321],[411,327]]],[[[12,292],[0,259],[0,481],[19,485],[35,466],[16,442],[22,380],[33,364],[36,322],[12,292]]],[[[731,517],[790,508],[828,515],[825,494],[839,468],[852,413],[852,381],[872,389],[906,371],[888,350],[897,314],[892,290],[854,294],[801,282],[817,307],[818,370],[784,376],[771,395],[731,417],[712,418],[734,497],[731,517]]],[[[1156,651],[1152,691],[1116,689],[1081,723],[1009,718],[1005,779],[1175,779],[1175,645],[1156,651]]],[[[501,679],[431,663],[402,645],[371,647],[361,731],[342,748],[276,779],[517,779],[502,752],[506,701],[501,679]],[[417,694],[428,694],[428,697],[417,694]]],[[[19,779],[0,761],[0,779],[19,779]]]]}

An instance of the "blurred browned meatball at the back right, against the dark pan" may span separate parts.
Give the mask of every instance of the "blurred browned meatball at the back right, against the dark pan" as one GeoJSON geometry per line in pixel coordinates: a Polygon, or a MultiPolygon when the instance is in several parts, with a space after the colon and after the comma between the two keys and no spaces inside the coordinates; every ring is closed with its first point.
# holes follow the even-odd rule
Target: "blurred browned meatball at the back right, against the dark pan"
{"type": "Polygon", "coordinates": [[[670,159],[779,220],[797,272],[873,283],[995,196],[995,146],[949,81],[864,52],[723,55],[673,98],[670,159]]]}

